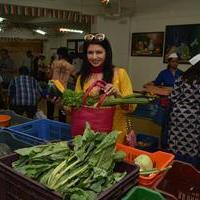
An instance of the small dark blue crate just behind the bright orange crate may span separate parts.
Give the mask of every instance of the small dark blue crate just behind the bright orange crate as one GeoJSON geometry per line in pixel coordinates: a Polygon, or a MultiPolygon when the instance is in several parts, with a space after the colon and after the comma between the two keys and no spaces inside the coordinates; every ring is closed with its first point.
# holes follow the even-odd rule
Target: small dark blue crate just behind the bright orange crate
{"type": "Polygon", "coordinates": [[[137,134],[137,149],[154,152],[158,150],[158,145],[159,139],[157,137],[146,135],[143,133],[137,134]]]}

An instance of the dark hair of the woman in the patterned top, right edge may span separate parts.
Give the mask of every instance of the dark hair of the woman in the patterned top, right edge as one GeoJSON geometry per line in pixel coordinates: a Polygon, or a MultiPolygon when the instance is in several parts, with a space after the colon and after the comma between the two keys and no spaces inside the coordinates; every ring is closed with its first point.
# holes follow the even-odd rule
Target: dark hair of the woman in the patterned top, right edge
{"type": "Polygon", "coordinates": [[[183,73],[182,79],[190,85],[192,85],[194,81],[200,84],[200,61],[186,70],[183,73]]]}

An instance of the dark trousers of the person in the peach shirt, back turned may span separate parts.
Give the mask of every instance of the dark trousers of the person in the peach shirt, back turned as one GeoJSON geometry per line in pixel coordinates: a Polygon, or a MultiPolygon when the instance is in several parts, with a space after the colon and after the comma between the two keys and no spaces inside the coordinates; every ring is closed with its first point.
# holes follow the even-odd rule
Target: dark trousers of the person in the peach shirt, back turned
{"type": "MultiPolygon", "coordinates": [[[[47,101],[47,118],[48,119],[54,119],[54,111],[55,111],[55,105],[51,101],[47,101]]],[[[60,122],[66,122],[66,114],[62,111],[58,111],[58,120],[60,122]]]]}

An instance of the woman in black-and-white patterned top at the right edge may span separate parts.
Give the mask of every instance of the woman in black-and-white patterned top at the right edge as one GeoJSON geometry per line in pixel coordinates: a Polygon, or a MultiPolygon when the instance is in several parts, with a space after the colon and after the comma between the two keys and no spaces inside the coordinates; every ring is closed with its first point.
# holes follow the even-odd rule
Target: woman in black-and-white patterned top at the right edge
{"type": "Polygon", "coordinates": [[[170,100],[169,149],[178,159],[198,164],[200,159],[200,54],[175,82],[170,100]]]}

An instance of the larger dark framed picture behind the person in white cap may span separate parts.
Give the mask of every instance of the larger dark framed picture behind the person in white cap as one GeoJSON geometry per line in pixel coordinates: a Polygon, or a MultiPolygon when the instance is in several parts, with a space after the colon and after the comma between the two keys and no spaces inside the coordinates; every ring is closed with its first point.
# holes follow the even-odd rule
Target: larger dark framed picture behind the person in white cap
{"type": "Polygon", "coordinates": [[[200,24],[166,26],[164,62],[171,53],[177,53],[179,63],[200,53],[200,24]]]}

